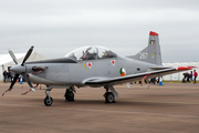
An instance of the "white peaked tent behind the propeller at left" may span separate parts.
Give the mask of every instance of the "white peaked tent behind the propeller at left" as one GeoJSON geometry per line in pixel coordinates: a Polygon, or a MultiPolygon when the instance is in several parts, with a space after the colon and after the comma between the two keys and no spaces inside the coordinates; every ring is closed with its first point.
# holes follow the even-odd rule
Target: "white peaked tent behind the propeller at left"
{"type": "MultiPolygon", "coordinates": [[[[17,60],[18,60],[18,63],[21,63],[24,59],[27,53],[14,53],[17,60]]],[[[40,61],[40,60],[46,60],[49,58],[42,55],[42,54],[39,54],[36,52],[33,52],[30,58],[28,59],[28,61],[40,61]]],[[[27,62],[28,62],[27,61],[27,62]]],[[[7,70],[8,71],[8,68],[9,66],[12,66],[14,65],[15,63],[13,62],[12,58],[10,57],[10,54],[0,54],[0,81],[3,80],[3,71],[7,70]]]]}

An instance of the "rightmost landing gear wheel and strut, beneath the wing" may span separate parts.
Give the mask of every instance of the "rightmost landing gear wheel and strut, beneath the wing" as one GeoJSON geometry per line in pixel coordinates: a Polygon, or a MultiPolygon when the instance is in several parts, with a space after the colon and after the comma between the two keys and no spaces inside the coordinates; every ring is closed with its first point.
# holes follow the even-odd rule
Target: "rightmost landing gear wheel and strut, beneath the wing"
{"type": "Polygon", "coordinates": [[[104,94],[105,103],[115,103],[115,98],[118,99],[118,93],[115,91],[113,86],[104,86],[106,89],[106,93],[104,94]],[[112,92],[108,92],[111,90],[112,92]]]}

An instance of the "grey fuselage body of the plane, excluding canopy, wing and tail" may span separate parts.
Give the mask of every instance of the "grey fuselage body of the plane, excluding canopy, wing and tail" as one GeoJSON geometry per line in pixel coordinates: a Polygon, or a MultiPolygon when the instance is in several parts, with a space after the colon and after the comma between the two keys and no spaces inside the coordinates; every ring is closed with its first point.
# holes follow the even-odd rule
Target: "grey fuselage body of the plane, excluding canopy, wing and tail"
{"type": "MultiPolygon", "coordinates": [[[[65,58],[66,59],[66,58],[65,58]]],[[[62,59],[64,60],[64,58],[62,59]]],[[[72,59],[66,59],[72,60],[72,59]]],[[[28,62],[27,73],[30,73],[30,80],[33,83],[40,84],[59,84],[77,86],[83,85],[85,80],[90,78],[116,78],[121,75],[121,69],[125,70],[125,75],[146,72],[148,68],[156,66],[156,64],[142,62],[138,60],[117,57],[111,59],[98,60],[84,60],[78,62],[28,62]],[[41,73],[34,73],[32,68],[41,66],[44,71],[41,73]]]]}

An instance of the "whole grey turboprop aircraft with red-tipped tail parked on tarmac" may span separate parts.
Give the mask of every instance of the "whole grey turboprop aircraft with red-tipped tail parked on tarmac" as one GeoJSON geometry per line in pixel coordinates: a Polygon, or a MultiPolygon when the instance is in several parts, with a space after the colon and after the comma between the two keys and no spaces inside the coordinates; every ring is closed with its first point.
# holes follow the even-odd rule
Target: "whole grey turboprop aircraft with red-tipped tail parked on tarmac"
{"type": "Polygon", "coordinates": [[[27,62],[32,51],[33,47],[30,48],[22,63],[18,64],[15,55],[9,50],[17,64],[10,70],[17,74],[6,92],[12,90],[21,74],[31,88],[28,92],[35,91],[32,83],[46,85],[46,98],[44,99],[46,106],[53,102],[50,96],[53,88],[66,89],[65,100],[74,101],[75,86],[104,86],[105,102],[113,103],[115,99],[118,99],[118,93],[114,89],[116,84],[157,78],[192,68],[163,66],[158,33],[153,31],[149,32],[148,45],[136,55],[130,57],[118,55],[104,47],[90,45],[76,49],[64,58],[27,62]]]}

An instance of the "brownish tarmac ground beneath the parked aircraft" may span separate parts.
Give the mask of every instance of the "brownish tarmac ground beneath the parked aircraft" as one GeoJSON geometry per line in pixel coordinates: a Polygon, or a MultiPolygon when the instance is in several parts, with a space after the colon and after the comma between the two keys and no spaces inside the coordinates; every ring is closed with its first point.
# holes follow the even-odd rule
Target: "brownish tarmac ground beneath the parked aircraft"
{"type": "MultiPolygon", "coordinates": [[[[27,83],[0,96],[0,133],[198,133],[199,83],[116,85],[116,103],[105,103],[103,88],[76,89],[65,102],[65,89],[53,89],[45,106],[44,85],[27,95],[27,83]]],[[[10,83],[0,83],[2,94],[10,83]]]]}

